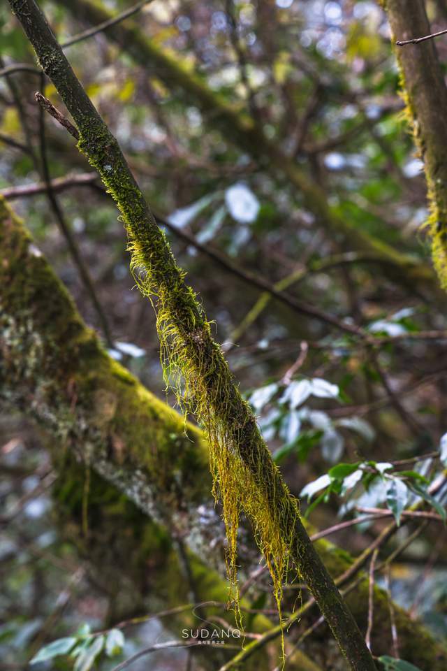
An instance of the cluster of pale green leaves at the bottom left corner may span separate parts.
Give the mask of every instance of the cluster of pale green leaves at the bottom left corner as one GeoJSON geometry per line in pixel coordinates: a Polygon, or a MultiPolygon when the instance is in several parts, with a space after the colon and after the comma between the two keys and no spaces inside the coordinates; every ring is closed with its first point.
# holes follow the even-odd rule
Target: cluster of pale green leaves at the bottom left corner
{"type": "Polygon", "coordinates": [[[89,671],[101,656],[115,657],[122,653],[123,647],[124,634],[120,629],[94,634],[88,624],[83,624],[74,636],[58,638],[41,648],[30,664],[69,656],[74,661],[73,671],[89,671]]]}

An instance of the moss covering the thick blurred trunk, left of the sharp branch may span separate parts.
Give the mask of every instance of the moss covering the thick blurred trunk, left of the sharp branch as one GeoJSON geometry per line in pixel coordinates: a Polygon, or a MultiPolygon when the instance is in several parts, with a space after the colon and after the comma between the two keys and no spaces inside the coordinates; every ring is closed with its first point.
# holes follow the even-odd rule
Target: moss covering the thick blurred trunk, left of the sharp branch
{"type": "Polygon", "coordinates": [[[210,482],[200,433],[103,351],[3,199],[0,283],[1,396],[25,404],[87,463],[107,456],[123,477],[143,470],[161,501],[201,502],[210,482]]]}

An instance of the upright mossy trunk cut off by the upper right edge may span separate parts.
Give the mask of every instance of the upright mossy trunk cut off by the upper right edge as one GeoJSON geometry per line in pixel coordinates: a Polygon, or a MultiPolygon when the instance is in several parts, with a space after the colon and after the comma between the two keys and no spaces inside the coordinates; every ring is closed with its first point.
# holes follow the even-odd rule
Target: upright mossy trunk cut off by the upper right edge
{"type": "MultiPolygon", "coordinates": [[[[384,0],[395,41],[430,34],[425,3],[384,0]]],[[[447,289],[447,87],[433,40],[397,47],[402,94],[413,136],[424,161],[434,266],[447,289]]]]}

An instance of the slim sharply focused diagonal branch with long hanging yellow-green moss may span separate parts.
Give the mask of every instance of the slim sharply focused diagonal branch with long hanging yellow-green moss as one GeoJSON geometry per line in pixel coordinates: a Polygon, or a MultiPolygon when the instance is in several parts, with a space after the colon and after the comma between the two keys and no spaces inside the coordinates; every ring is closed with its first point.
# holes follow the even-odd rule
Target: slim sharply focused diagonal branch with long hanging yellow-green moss
{"type": "Polygon", "coordinates": [[[183,387],[179,396],[205,426],[214,491],[223,504],[231,581],[235,584],[237,526],[243,509],[254,524],[278,603],[291,560],[351,668],[374,671],[376,666],[356,621],[302,525],[298,504],[272,461],[254,415],[242,399],[220,347],[212,340],[203,308],[184,283],[184,273],[175,263],[117,140],[80,85],[34,0],[10,0],[10,6],[43,71],[78,125],[80,150],[117,201],[130,238],[133,272],[140,275],[140,288],[156,308],[166,377],[183,387]]]}

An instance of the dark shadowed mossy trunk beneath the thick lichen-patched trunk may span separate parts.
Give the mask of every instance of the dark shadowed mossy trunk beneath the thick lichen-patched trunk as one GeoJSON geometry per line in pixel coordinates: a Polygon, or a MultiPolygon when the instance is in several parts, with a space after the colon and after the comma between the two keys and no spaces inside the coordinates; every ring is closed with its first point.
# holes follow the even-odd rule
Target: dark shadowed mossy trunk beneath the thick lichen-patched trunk
{"type": "MultiPolygon", "coordinates": [[[[73,454],[61,455],[55,441],[47,441],[53,463],[58,471],[52,487],[54,514],[59,533],[71,542],[82,561],[88,563],[95,583],[114,603],[114,622],[134,616],[186,605],[186,608],[163,623],[177,637],[182,628],[196,629],[200,620],[193,614],[197,603],[203,616],[223,616],[236,626],[234,613],[225,607],[228,596],[226,581],[219,572],[200,560],[187,547],[179,552],[178,541],[167,530],[155,524],[135,504],[96,473],[91,474],[89,486],[89,528],[83,533],[83,491],[85,468],[73,459],[73,454]],[[117,533],[117,520],[119,533],[117,533]],[[148,570],[149,568],[149,570],[148,570]],[[220,604],[220,607],[212,603],[220,604]],[[189,607],[187,607],[189,604],[189,607]]],[[[243,608],[250,608],[248,599],[243,608]]],[[[265,633],[273,623],[264,614],[253,614],[250,630],[265,633]]],[[[203,651],[205,668],[216,669],[229,654],[214,647],[203,651]]],[[[200,654],[200,651],[197,651],[200,654]]],[[[321,671],[302,651],[288,658],[291,671],[321,671]]],[[[258,654],[247,671],[269,668],[269,656],[258,654]]]]}

